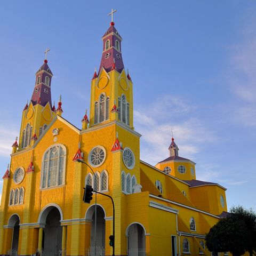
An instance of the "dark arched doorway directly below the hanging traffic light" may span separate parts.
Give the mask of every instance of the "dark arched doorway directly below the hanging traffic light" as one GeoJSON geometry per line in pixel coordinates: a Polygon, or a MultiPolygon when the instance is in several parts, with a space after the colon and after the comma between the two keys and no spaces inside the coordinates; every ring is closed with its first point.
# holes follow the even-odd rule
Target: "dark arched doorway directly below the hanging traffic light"
{"type": "Polygon", "coordinates": [[[91,205],[85,214],[85,218],[91,220],[91,244],[87,249],[87,254],[105,255],[105,210],[102,206],[97,205],[96,214],[96,242],[95,242],[95,205],[91,205]],[[96,246],[96,247],[95,247],[96,246]]]}

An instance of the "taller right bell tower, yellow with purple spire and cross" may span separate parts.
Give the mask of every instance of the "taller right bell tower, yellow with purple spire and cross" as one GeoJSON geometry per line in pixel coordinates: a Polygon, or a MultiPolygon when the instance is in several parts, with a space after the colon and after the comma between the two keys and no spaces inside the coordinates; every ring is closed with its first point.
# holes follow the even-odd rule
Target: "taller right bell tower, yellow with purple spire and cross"
{"type": "Polygon", "coordinates": [[[133,84],[122,58],[122,37],[112,21],[102,37],[103,50],[99,71],[91,82],[89,127],[112,121],[133,129],[133,84]]]}

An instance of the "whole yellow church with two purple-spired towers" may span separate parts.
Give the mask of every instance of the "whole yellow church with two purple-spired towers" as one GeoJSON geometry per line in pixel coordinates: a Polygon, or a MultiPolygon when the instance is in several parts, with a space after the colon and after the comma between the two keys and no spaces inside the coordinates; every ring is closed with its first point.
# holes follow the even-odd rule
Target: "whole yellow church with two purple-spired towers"
{"type": "Polygon", "coordinates": [[[155,166],[140,159],[133,82],[114,25],[102,37],[81,127],[63,118],[61,98],[52,105],[46,58],[36,72],[3,177],[0,255],[215,255],[205,234],[227,212],[226,189],[197,180],[173,138],[155,166]],[[86,185],[98,191],[90,203],[86,185]]]}

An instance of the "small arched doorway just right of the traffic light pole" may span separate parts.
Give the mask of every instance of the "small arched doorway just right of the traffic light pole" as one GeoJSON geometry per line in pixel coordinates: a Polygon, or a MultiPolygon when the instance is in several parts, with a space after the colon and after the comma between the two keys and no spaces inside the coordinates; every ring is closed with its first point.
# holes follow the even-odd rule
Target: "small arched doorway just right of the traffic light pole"
{"type": "Polygon", "coordinates": [[[133,223],[126,229],[128,255],[145,256],[145,229],[139,223],[133,223]]]}

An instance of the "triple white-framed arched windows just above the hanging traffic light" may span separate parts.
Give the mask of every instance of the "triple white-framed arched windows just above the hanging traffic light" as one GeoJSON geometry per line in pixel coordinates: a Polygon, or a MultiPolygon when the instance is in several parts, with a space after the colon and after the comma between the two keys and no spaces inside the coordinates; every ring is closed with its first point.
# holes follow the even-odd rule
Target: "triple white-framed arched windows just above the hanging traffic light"
{"type": "Polygon", "coordinates": [[[108,173],[103,170],[101,173],[95,172],[95,176],[92,173],[88,173],[85,178],[85,185],[90,185],[96,191],[108,191],[108,173]]]}

